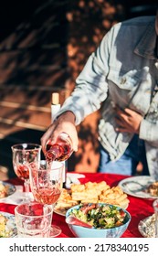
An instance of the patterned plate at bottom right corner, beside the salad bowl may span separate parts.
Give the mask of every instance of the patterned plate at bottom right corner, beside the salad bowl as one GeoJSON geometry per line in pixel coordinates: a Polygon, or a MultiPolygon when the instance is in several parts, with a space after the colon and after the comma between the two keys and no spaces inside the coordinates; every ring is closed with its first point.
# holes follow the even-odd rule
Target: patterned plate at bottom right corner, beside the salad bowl
{"type": "Polygon", "coordinates": [[[155,215],[149,216],[142,219],[138,224],[138,230],[144,238],[154,238],[155,237],[155,215]]]}

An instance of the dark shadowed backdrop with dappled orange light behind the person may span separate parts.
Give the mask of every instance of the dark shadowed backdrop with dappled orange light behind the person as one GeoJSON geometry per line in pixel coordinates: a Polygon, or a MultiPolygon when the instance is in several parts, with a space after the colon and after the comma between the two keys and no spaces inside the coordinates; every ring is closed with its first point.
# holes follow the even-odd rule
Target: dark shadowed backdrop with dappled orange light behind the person
{"type": "MultiPolygon", "coordinates": [[[[11,145],[40,144],[50,124],[52,92],[60,103],[112,25],[155,15],[156,0],[5,0],[0,7],[0,179],[16,176],[11,145]]],[[[79,151],[68,171],[96,172],[100,112],[78,126],[79,151]]],[[[42,155],[43,157],[43,155],[42,155]]]]}

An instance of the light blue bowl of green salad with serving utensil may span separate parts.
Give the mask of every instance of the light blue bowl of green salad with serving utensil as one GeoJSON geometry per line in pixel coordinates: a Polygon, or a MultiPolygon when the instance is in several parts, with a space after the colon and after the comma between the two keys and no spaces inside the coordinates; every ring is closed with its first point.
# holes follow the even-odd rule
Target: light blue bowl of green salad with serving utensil
{"type": "Polygon", "coordinates": [[[69,208],[66,222],[76,238],[120,238],[131,221],[124,208],[106,203],[69,208]]]}

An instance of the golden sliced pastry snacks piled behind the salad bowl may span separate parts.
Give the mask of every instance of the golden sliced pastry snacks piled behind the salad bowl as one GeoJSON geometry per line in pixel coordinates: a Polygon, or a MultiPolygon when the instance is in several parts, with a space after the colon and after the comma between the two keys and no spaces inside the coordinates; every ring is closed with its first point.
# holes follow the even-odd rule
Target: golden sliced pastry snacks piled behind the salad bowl
{"type": "Polygon", "coordinates": [[[55,211],[64,215],[68,208],[79,204],[108,203],[127,208],[129,199],[121,187],[110,187],[105,181],[72,184],[70,189],[62,189],[55,211]]]}

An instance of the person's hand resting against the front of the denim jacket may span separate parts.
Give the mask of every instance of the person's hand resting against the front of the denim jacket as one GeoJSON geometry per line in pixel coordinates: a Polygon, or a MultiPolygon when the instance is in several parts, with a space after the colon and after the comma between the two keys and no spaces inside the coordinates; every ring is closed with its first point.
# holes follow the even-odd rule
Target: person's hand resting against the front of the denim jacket
{"type": "Polygon", "coordinates": [[[142,122],[142,115],[138,112],[134,112],[131,109],[125,108],[122,111],[119,107],[115,108],[116,111],[116,123],[118,127],[116,128],[117,132],[122,133],[139,133],[140,125],[142,122]]]}

